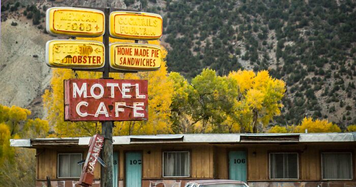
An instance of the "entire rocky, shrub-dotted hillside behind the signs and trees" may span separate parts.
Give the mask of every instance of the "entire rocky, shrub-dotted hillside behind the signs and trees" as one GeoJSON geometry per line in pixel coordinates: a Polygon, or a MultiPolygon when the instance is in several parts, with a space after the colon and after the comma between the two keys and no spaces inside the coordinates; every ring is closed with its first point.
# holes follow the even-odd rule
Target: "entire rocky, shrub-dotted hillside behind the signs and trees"
{"type": "Polygon", "coordinates": [[[269,70],[287,83],[282,115],[274,123],[295,124],[304,116],[328,118],[341,128],[356,123],[354,0],[12,0],[2,5],[0,76],[10,81],[1,82],[6,92],[0,102],[6,105],[32,106],[48,85],[43,44],[51,37],[43,33],[44,12],[76,5],[161,14],[168,68],[188,79],[203,68],[220,75],[240,68],[269,70]]]}

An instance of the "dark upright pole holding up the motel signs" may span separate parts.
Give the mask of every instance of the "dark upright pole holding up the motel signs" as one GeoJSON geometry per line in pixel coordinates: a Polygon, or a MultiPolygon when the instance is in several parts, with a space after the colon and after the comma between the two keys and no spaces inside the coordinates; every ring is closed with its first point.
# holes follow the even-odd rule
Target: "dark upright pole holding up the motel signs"
{"type": "MultiPolygon", "coordinates": [[[[105,34],[103,36],[103,43],[105,46],[105,65],[103,72],[103,79],[110,79],[109,77],[109,15],[110,9],[105,8],[105,34]]],[[[101,182],[100,186],[102,187],[113,187],[113,178],[112,178],[112,166],[113,166],[113,151],[112,151],[112,127],[113,121],[102,121],[101,122],[101,132],[104,136],[104,145],[102,151],[103,161],[106,163],[106,168],[102,168],[101,172],[101,182]]]]}

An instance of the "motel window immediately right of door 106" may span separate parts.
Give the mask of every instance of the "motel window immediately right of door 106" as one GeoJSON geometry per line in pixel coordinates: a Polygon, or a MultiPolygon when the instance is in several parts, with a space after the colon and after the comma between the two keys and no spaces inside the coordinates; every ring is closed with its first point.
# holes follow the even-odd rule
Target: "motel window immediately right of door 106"
{"type": "Polygon", "coordinates": [[[298,153],[270,153],[271,179],[298,179],[298,153]]]}

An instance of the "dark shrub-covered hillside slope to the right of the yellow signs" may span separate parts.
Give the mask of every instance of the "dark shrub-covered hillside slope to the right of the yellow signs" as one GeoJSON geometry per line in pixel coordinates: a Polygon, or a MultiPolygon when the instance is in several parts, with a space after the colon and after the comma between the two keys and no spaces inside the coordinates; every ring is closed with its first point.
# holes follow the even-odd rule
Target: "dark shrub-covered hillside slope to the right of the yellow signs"
{"type": "Polygon", "coordinates": [[[277,123],[356,121],[354,1],[167,1],[168,69],[270,70],[287,83],[277,123]]]}

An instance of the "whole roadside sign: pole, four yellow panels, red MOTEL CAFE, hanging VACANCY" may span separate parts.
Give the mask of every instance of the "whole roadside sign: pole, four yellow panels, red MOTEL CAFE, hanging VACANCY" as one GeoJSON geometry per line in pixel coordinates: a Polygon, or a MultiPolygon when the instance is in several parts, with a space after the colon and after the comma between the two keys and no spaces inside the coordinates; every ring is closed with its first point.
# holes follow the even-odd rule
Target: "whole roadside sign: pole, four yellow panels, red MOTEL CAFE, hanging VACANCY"
{"type": "MultiPolygon", "coordinates": [[[[162,24],[160,15],[145,12],[87,7],[53,7],[47,10],[46,29],[52,35],[86,38],[103,36],[102,43],[87,40],[51,40],[46,43],[48,66],[103,73],[100,79],[64,81],[64,120],[100,121],[104,138],[103,145],[96,143],[91,146],[95,151],[89,151],[83,168],[86,173],[82,173],[77,184],[86,187],[92,185],[95,169],[92,165],[99,161],[106,166],[102,167],[101,186],[115,186],[112,172],[113,121],[147,120],[149,97],[147,80],[115,80],[109,77],[109,72],[158,70],[162,61],[160,47],[138,44],[138,40],[161,38],[162,24]],[[110,44],[110,36],[135,40],[135,43],[110,44]],[[98,157],[101,147],[103,162],[98,157]]],[[[102,143],[101,139],[98,142],[102,143]]]]}

